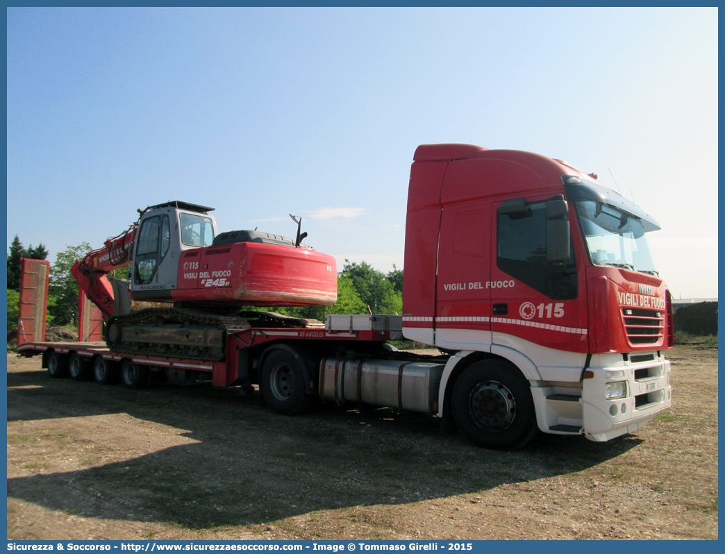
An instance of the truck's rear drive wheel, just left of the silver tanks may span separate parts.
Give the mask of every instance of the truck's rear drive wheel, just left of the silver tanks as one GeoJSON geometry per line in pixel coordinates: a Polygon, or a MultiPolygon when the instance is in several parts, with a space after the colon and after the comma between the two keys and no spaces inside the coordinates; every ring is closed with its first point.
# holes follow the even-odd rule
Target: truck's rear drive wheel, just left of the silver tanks
{"type": "Polygon", "coordinates": [[[315,397],[305,394],[305,372],[299,359],[286,350],[276,350],[265,358],[260,389],[267,405],[286,416],[310,409],[315,397]]]}

